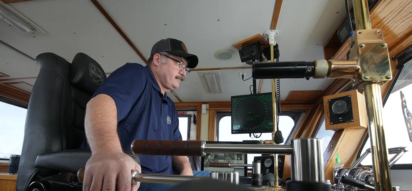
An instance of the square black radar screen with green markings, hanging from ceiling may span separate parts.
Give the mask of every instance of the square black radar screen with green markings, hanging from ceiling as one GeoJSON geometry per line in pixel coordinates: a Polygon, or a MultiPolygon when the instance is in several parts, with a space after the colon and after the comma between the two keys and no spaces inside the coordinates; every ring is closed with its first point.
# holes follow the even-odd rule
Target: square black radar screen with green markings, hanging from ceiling
{"type": "Polygon", "coordinates": [[[273,131],[272,93],[232,96],[232,134],[273,131]]]}

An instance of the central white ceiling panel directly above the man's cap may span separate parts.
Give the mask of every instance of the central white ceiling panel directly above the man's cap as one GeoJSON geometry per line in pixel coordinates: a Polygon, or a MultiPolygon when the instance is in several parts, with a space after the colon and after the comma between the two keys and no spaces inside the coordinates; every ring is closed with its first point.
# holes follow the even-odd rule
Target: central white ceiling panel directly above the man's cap
{"type": "Polygon", "coordinates": [[[158,40],[185,43],[199,57],[198,68],[247,66],[232,44],[268,30],[275,0],[99,0],[146,57],[158,40]],[[219,20],[219,21],[218,21],[219,20]],[[166,25],[165,25],[166,24],[166,25]],[[214,57],[220,49],[232,59],[214,57]]]}

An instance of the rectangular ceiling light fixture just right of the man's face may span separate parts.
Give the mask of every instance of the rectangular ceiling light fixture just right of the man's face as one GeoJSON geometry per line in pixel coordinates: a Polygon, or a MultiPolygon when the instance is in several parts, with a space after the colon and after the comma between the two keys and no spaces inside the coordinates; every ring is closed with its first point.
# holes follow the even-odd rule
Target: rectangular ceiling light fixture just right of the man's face
{"type": "Polygon", "coordinates": [[[223,93],[220,71],[199,71],[200,81],[207,93],[223,93]]]}

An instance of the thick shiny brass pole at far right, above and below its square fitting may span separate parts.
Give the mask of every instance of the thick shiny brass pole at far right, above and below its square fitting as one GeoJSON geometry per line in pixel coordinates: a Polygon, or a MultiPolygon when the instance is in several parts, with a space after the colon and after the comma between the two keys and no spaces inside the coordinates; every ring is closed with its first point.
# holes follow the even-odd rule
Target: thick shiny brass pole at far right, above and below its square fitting
{"type": "MultiPolygon", "coordinates": [[[[356,29],[372,29],[367,0],[353,0],[356,29]]],[[[361,62],[361,61],[360,61],[361,62]]],[[[369,65],[370,63],[365,63],[369,65]]],[[[365,84],[366,111],[368,114],[368,133],[372,151],[373,171],[375,175],[375,191],[391,191],[388,149],[386,148],[382,121],[382,97],[380,84],[365,84]]]]}

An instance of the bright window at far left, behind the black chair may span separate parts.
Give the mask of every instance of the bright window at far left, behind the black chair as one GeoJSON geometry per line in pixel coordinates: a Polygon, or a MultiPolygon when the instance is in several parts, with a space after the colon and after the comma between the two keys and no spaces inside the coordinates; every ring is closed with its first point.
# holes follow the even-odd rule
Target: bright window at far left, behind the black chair
{"type": "Polygon", "coordinates": [[[0,99],[0,160],[9,160],[11,154],[21,155],[27,113],[23,107],[17,102],[0,99]]]}

